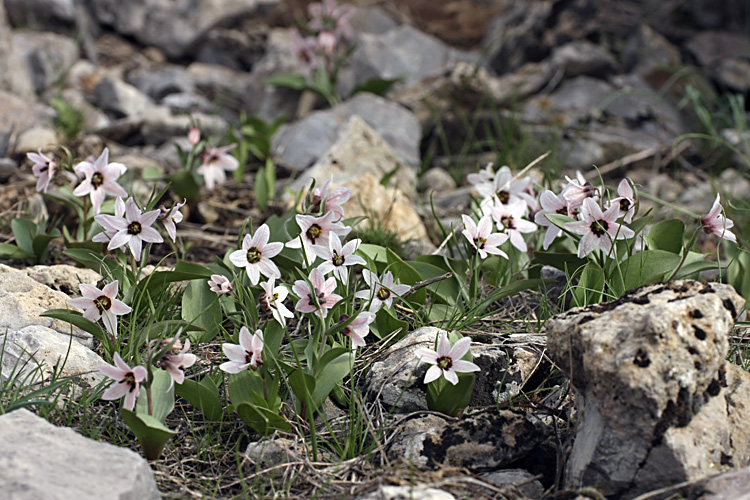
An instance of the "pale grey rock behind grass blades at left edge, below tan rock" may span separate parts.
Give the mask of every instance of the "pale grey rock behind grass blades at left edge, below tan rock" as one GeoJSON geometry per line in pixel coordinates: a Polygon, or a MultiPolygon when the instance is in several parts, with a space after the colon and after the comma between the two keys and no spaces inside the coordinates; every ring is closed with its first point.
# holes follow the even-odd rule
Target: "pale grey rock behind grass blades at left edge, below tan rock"
{"type": "Polygon", "coordinates": [[[99,366],[106,362],[78,342],[70,342],[46,326],[30,325],[0,335],[3,377],[23,385],[39,384],[53,373],[75,378],[79,385],[94,387],[105,377],[99,366]]]}

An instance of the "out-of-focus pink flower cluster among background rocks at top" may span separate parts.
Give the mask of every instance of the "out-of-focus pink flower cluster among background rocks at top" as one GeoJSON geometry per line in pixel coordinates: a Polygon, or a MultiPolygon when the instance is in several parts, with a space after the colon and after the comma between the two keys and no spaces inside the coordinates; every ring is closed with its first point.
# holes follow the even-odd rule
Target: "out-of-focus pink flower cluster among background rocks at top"
{"type": "Polygon", "coordinates": [[[337,5],[336,0],[323,0],[307,6],[310,21],[306,26],[307,35],[295,29],[292,31],[292,47],[300,70],[310,77],[316,68],[330,66],[337,48],[345,40],[351,40],[354,32],[349,18],[354,7],[337,5]]]}

